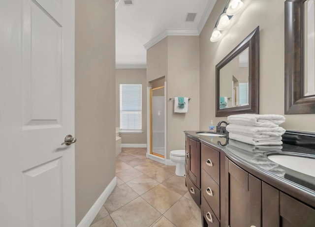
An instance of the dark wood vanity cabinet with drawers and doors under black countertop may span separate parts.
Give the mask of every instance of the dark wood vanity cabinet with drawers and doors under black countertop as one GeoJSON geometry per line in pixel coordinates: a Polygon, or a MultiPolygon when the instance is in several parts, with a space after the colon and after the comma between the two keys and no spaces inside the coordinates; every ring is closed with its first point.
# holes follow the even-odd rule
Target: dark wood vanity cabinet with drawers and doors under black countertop
{"type": "Polygon", "coordinates": [[[314,191],[248,166],[218,145],[223,138],[185,133],[186,184],[203,227],[315,227],[314,191]]]}

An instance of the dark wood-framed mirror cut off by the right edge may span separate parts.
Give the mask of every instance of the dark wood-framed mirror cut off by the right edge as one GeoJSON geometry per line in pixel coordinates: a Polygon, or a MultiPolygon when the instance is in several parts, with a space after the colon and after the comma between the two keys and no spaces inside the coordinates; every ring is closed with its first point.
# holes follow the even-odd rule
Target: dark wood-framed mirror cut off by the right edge
{"type": "Polygon", "coordinates": [[[284,2],[284,114],[315,114],[314,0],[284,2]]]}

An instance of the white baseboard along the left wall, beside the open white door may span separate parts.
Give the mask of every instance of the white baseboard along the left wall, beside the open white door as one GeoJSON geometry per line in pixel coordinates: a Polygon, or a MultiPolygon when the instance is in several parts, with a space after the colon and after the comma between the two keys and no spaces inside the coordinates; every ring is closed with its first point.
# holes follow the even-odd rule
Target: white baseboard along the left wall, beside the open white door
{"type": "Polygon", "coordinates": [[[112,181],[109,183],[109,185],[105,188],[104,192],[95,201],[91,209],[84,216],[84,218],[81,220],[81,222],[79,223],[77,227],[90,227],[91,226],[96,215],[98,214],[98,211],[100,210],[100,208],[102,208],[102,205],[105,203],[106,199],[112,193],[116,185],[117,185],[117,177],[115,176],[112,179],[112,181]]]}

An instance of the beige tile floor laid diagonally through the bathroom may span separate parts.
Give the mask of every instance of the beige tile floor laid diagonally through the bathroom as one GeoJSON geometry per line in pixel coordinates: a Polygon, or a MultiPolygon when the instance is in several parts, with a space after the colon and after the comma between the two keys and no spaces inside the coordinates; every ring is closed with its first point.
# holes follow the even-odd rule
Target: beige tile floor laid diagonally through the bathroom
{"type": "Polygon", "coordinates": [[[90,227],[201,227],[200,208],[175,166],[146,158],[147,148],[122,148],[117,186],[90,227]]]}

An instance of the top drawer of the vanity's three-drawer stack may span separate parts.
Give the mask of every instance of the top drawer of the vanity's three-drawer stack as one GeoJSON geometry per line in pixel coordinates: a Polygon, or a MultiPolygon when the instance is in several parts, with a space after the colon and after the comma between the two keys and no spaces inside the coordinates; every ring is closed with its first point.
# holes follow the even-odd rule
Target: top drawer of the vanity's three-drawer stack
{"type": "Polygon", "coordinates": [[[220,185],[220,152],[201,144],[201,167],[220,185]]]}

